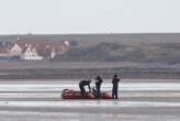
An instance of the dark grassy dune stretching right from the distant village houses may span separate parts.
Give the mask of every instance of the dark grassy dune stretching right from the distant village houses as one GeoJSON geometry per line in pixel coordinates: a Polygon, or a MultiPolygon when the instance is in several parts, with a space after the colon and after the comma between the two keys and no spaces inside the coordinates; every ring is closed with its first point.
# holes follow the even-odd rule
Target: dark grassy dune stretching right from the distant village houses
{"type": "Polygon", "coordinates": [[[101,43],[89,47],[74,48],[57,56],[60,62],[133,62],[133,63],[180,63],[180,44],[117,44],[101,43]]]}

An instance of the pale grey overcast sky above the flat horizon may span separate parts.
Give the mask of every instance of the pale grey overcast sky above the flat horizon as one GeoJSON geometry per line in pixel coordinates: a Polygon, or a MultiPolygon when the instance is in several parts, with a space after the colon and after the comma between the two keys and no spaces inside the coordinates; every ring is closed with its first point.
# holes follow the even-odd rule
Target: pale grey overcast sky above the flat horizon
{"type": "Polygon", "coordinates": [[[0,34],[180,32],[180,0],[0,0],[0,34]]]}

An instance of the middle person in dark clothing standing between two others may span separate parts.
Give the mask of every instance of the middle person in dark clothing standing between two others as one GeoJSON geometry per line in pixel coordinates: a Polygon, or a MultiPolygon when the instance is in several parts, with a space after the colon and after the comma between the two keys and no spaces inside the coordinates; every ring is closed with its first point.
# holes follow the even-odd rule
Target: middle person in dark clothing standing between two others
{"type": "Polygon", "coordinates": [[[95,78],[95,87],[97,87],[97,98],[101,98],[101,84],[103,82],[100,74],[97,75],[95,78]]]}

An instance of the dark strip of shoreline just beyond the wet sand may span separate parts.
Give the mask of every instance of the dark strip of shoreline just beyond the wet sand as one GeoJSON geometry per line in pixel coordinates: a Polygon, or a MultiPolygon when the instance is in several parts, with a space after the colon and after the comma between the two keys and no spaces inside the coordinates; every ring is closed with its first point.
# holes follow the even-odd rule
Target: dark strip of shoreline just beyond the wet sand
{"type": "Polygon", "coordinates": [[[114,72],[123,79],[180,79],[180,70],[173,68],[0,69],[0,79],[93,79],[98,73],[111,79],[114,72]]]}

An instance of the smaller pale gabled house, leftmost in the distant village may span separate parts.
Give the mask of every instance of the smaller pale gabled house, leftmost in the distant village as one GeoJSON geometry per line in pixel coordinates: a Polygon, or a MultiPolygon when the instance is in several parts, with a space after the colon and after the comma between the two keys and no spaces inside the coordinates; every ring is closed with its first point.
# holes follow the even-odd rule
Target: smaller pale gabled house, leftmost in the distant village
{"type": "Polygon", "coordinates": [[[22,48],[18,44],[14,44],[9,51],[10,57],[21,56],[21,54],[22,54],[22,48]]]}

